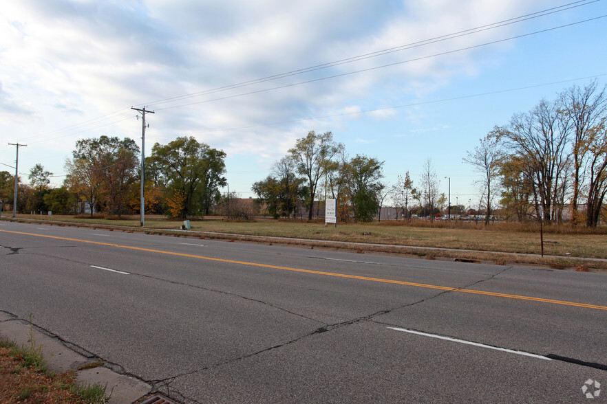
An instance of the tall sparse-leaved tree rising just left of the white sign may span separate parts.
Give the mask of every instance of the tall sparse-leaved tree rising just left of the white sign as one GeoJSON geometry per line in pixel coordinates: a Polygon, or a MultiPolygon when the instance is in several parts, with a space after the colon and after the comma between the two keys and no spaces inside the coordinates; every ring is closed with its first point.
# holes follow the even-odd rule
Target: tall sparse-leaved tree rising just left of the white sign
{"type": "Polygon", "coordinates": [[[337,170],[337,163],[332,159],[342,149],[342,144],[333,141],[332,133],[317,135],[315,131],[310,131],[306,137],[297,139],[295,147],[288,150],[297,172],[308,180],[308,220],[312,220],[319,179],[329,171],[337,170]]]}

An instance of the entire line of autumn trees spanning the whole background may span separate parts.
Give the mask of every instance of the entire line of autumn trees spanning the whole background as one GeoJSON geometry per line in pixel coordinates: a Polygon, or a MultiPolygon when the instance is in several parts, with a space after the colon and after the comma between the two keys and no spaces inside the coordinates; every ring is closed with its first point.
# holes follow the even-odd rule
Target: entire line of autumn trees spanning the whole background
{"type": "MultiPolygon", "coordinates": [[[[129,138],[101,136],[76,142],[65,162],[67,176],[50,188],[51,172],[36,164],[28,184],[19,186],[20,212],[120,215],[138,213],[139,149],[129,138]]],[[[145,210],[173,217],[200,216],[217,209],[226,186],[222,150],[193,137],[154,144],[145,164],[145,210]]],[[[478,209],[485,223],[499,214],[511,221],[539,221],[595,227],[606,215],[607,88],[596,81],[565,89],[554,100],[540,100],[495,126],[463,161],[476,170],[478,209]],[[601,216],[603,215],[603,216],[601,216]]],[[[310,131],[275,162],[270,174],[253,183],[257,202],[275,217],[322,216],[319,201],[337,199],[339,220],[371,221],[392,203],[401,218],[428,216],[448,205],[432,160],[418,183],[399,175],[388,186],[375,157],[350,157],[331,132],[310,131]]],[[[0,172],[0,199],[12,201],[14,177],[0,172]]],[[[447,206],[451,212],[452,206],[447,206]]],[[[456,206],[461,213],[465,206],[456,206]]],[[[250,215],[249,215],[250,216],[250,215]]]]}

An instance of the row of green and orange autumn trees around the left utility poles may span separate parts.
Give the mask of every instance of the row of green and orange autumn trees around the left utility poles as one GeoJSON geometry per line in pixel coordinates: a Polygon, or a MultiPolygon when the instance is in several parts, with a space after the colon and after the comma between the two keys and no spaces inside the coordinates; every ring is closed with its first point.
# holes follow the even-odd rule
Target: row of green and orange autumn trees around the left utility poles
{"type": "MultiPolygon", "coordinates": [[[[145,160],[145,211],[184,218],[209,214],[226,185],[226,154],[193,137],[156,143],[145,160]]],[[[36,164],[19,183],[17,210],[111,216],[140,212],[140,150],[128,137],[80,139],[65,161],[67,175],[50,187],[52,172],[36,164]]],[[[0,172],[0,199],[12,203],[14,176],[0,172]]]]}

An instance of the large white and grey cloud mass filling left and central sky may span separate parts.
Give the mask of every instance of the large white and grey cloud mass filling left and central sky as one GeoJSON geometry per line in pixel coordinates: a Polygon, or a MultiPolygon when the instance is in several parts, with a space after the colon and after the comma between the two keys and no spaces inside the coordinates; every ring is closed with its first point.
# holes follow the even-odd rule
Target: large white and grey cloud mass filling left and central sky
{"type": "MultiPolygon", "coordinates": [[[[429,120],[423,109],[382,108],[436,99],[462,78],[497,69],[515,43],[427,56],[527,31],[513,25],[280,80],[155,101],[415,43],[549,5],[547,0],[10,0],[0,17],[0,131],[38,136],[28,149],[38,142],[61,156],[52,168],[58,172],[78,136],[138,138],[140,123],[129,106],[142,103],[156,111],[149,115],[150,147],[194,135],[228,155],[254,155],[261,165],[284,155],[312,129],[348,131],[343,137],[361,140],[370,133],[363,128],[369,122],[403,121],[416,130],[429,120]],[[401,63],[416,58],[422,59],[401,63]],[[392,63],[401,64],[374,69],[392,63]],[[350,74],[361,69],[372,70],[350,74]],[[345,76],[263,91],[340,74],[345,76]],[[167,109],[191,103],[196,104],[167,109]],[[356,113],[371,109],[380,110],[356,113]],[[115,111],[120,113],[97,126],[44,135],[115,111]],[[354,114],[312,119],[348,113],[354,114]]],[[[419,130],[435,127],[433,122],[419,130]]],[[[365,142],[355,143],[372,146],[365,142]]]]}

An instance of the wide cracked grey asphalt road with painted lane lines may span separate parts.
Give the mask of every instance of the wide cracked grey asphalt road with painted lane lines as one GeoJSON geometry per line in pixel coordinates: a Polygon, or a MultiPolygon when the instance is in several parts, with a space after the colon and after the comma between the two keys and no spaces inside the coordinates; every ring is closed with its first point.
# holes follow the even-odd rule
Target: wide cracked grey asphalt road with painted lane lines
{"type": "Polygon", "coordinates": [[[0,311],[177,401],[607,403],[604,273],[6,221],[0,246],[0,311]]]}

